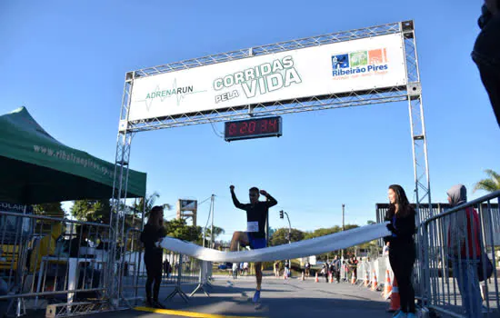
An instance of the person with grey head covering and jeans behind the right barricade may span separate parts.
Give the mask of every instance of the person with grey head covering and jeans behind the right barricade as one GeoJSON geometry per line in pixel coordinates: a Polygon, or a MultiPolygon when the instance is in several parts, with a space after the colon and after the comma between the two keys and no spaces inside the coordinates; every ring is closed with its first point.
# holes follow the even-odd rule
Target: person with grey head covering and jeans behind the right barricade
{"type": "MultiPolygon", "coordinates": [[[[467,202],[467,189],[456,184],[447,192],[452,206],[467,202]]],[[[480,317],[481,291],[477,277],[477,266],[481,257],[479,216],[474,208],[466,208],[450,215],[448,248],[453,263],[453,275],[462,294],[468,317],[480,317]]]]}

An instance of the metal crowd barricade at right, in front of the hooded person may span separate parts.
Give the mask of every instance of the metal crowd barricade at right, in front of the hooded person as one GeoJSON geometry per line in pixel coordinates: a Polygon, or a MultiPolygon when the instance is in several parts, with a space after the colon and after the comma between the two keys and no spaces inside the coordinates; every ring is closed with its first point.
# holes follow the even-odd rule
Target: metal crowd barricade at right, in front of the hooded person
{"type": "Polygon", "coordinates": [[[500,191],[435,215],[421,224],[425,307],[454,317],[500,314],[498,259],[500,191]],[[495,206],[497,206],[495,204],[495,206]],[[477,214],[475,214],[477,212],[477,214]],[[479,282],[492,265],[492,275],[479,282]]]}

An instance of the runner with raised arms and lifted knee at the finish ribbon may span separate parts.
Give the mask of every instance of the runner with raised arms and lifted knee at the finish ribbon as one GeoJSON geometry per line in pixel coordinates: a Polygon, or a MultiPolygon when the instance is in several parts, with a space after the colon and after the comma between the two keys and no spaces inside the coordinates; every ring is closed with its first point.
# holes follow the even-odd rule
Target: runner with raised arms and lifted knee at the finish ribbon
{"type": "MultiPolygon", "coordinates": [[[[242,246],[250,246],[256,250],[265,248],[267,242],[265,241],[265,221],[267,213],[271,206],[277,203],[274,197],[269,195],[264,190],[259,192],[259,189],[253,187],[249,190],[250,204],[240,204],[235,194],[235,185],[229,187],[233,203],[238,209],[246,211],[246,232],[235,232],[231,240],[231,252],[235,252],[238,248],[238,243],[242,246]],[[266,201],[259,201],[259,194],[262,194],[267,199],[266,201]]],[[[257,288],[254,294],[254,303],[260,300],[260,288],[262,283],[262,263],[255,262],[255,277],[257,279],[257,288]]]]}

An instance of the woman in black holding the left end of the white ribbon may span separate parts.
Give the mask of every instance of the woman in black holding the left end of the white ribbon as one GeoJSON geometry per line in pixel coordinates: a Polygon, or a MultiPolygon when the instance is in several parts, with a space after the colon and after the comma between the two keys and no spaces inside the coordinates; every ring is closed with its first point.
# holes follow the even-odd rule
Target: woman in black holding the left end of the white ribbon
{"type": "Polygon", "coordinates": [[[145,281],[146,305],[154,308],[165,308],[158,301],[160,293],[160,283],[162,283],[163,249],[157,243],[165,237],[164,209],[156,205],[151,209],[149,218],[143,233],[141,242],[145,245],[145,271],[147,280],[145,281]],[[151,297],[151,285],[153,287],[153,298],[151,297]]]}

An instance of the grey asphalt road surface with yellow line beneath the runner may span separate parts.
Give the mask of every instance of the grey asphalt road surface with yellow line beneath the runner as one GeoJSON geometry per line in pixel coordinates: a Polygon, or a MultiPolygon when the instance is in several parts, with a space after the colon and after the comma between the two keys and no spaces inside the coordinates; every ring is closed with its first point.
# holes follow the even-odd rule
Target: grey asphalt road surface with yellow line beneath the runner
{"type": "MultiPolygon", "coordinates": [[[[261,308],[255,309],[252,296],[255,291],[255,277],[238,278],[228,287],[226,277],[218,277],[213,288],[207,288],[210,297],[196,293],[188,303],[179,296],[164,302],[166,311],[151,313],[145,311],[144,304],[137,303],[135,310],[118,313],[94,314],[95,318],[127,317],[370,317],[390,318],[386,313],[388,303],[380,293],[365,287],[348,283],[315,283],[313,278],[305,282],[299,279],[275,279],[265,277],[261,293],[261,308]]],[[[185,286],[191,292],[193,286],[185,286]]],[[[160,300],[172,290],[164,288],[160,300]]]]}

